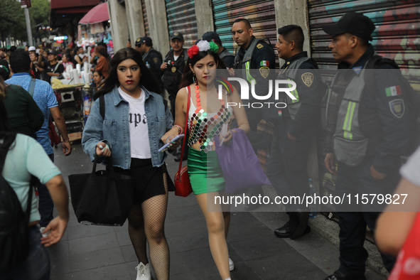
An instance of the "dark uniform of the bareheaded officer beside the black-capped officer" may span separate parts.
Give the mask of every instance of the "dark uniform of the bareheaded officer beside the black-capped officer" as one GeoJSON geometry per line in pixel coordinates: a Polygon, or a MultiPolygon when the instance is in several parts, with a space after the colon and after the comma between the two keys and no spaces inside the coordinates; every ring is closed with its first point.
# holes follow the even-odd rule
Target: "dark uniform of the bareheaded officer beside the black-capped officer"
{"type": "MultiPolygon", "coordinates": [[[[286,108],[276,109],[277,118],[270,119],[274,124],[274,136],[266,172],[271,184],[282,196],[308,193],[308,153],[311,142],[316,138],[320,117],[318,97],[321,82],[316,69],[318,65],[315,61],[302,52],[286,59],[279,73],[279,80],[296,82],[296,90],[291,92],[296,100],[286,97],[286,108]],[[297,139],[289,139],[288,133],[297,139]]],[[[288,204],[285,207],[291,220],[297,210],[306,211],[300,205],[288,204]]]]}

